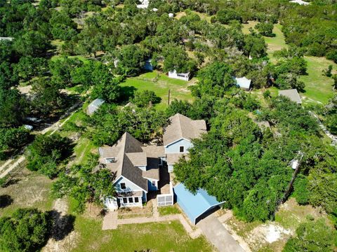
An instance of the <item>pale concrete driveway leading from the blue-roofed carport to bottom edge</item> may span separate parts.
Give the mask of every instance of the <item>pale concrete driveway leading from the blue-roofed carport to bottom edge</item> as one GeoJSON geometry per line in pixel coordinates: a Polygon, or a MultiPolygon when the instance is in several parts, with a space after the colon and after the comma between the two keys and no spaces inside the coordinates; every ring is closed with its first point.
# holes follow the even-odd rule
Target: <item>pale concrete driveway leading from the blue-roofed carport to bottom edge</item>
{"type": "Polygon", "coordinates": [[[197,227],[204,232],[207,239],[220,252],[244,252],[242,246],[234,240],[218,218],[211,214],[197,223],[197,227]]]}

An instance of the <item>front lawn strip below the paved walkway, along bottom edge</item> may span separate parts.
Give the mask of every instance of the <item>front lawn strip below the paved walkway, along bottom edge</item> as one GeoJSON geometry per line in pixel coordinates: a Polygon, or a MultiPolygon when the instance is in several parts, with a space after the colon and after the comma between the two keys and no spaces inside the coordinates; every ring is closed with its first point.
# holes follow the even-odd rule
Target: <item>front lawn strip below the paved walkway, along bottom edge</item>
{"type": "Polygon", "coordinates": [[[121,225],[102,230],[102,221],[78,216],[77,246],[72,251],[213,251],[204,237],[191,239],[178,221],[121,225]]]}

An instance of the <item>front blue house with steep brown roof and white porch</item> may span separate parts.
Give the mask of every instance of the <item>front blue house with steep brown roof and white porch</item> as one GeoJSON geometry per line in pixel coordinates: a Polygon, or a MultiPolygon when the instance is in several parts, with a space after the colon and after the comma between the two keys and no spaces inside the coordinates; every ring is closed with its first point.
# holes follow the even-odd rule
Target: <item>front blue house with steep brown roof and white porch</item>
{"type": "Polygon", "coordinates": [[[108,209],[142,207],[147,193],[158,190],[159,167],[163,165],[164,146],[143,146],[124,133],[114,146],[99,148],[100,164],[114,174],[116,195],[105,200],[108,209]]]}

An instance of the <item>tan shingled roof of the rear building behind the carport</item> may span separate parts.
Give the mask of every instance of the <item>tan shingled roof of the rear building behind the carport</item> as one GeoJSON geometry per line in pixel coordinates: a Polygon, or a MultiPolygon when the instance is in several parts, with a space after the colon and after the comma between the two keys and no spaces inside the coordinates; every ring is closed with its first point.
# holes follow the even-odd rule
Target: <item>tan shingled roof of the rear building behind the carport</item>
{"type": "Polygon", "coordinates": [[[164,131],[164,146],[168,146],[179,139],[192,140],[206,132],[205,120],[192,120],[180,113],[169,118],[171,124],[164,131]]]}

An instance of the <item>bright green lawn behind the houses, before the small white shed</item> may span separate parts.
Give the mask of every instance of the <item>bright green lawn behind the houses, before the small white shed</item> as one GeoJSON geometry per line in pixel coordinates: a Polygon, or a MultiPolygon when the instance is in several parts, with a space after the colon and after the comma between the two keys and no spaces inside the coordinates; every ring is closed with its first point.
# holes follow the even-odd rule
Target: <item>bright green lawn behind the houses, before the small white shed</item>
{"type": "Polygon", "coordinates": [[[156,75],[157,72],[150,72],[144,73],[137,78],[128,78],[124,83],[121,83],[121,86],[124,88],[131,88],[133,89],[133,91],[152,90],[157,94],[158,97],[161,97],[161,103],[156,105],[157,109],[165,109],[167,107],[169,90],[171,90],[170,101],[173,101],[173,99],[192,101],[192,94],[190,90],[187,89],[187,87],[194,83],[194,79],[190,81],[176,80],[173,78],[169,78],[162,73],[159,73],[159,78],[157,82],[142,79],[155,78],[156,75]]]}

